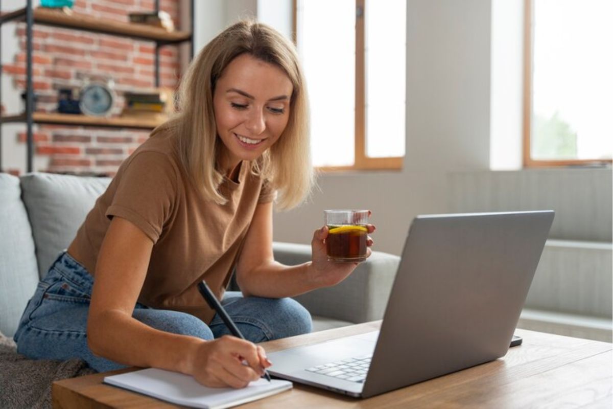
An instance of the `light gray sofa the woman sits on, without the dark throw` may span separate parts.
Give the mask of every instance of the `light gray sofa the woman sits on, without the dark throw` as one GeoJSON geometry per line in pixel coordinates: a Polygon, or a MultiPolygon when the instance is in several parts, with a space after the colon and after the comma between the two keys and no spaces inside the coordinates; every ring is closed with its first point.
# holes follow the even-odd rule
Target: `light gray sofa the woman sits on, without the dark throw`
{"type": "MultiPolygon", "coordinates": [[[[12,337],[29,297],[66,248],[109,178],[0,174],[0,333],[12,337]]],[[[299,264],[310,245],[274,243],[276,260],[299,264]]],[[[313,315],[313,331],[383,316],[399,258],[374,251],[340,285],[296,297],[313,315]]]]}

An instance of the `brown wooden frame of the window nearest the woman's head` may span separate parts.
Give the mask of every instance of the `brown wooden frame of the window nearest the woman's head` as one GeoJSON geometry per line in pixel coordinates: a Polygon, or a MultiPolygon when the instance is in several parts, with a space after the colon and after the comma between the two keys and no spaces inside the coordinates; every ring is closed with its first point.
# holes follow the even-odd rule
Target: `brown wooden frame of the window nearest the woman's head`
{"type": "MultiPolygon", "coordinates": [[[[298,0],[293,0],[293,9],[294,31],[292,32],[292,40],[294,40],[294,44],[297,45],[298,0]]],[[[365,0],[356,0],[356,133],[354,136],[354,164],[351,166],[316,167],[317,170],[322,172],[338,172],[347,170],[402,170],[403,159],[406,156],[405,154],[405,156],[387,156],[384,158],[371,158],[370,156],[366,155],[365,12],[365,0]]]]}

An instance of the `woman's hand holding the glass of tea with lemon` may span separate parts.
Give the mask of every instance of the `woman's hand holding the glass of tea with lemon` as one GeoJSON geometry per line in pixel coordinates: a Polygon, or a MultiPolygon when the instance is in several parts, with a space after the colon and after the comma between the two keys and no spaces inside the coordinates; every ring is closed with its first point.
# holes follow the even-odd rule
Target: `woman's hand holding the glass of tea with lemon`
{"type": "MultiPolygon", "coordinates": [[[[368,234],[375,231],[374,224],[367,224],[368,234]]],[[[311,248],[313,251],[313,261],[311,262],[311,280],[317,287],[330,287],[337,285],[345,278],[349,277],[349,274],[356,269],[359,262],[336,262],[328,261],[326,253],[326,242],[328,237],[328,227],[324,226],[321,229],[317,229],[313,233],[313,241],[311,242],[311,248]]],[[[366,257],[370,257],[372,251],[370,247],[373,245],[373,239],[370,235],[366,239],[366,257]]]]}

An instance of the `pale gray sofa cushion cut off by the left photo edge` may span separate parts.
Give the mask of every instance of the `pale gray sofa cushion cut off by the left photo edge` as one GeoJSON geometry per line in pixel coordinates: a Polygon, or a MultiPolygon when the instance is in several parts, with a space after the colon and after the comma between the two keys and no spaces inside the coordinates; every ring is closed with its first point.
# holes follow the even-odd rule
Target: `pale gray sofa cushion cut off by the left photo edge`
{"type": "Polygon", "coordinates": [[[19,179],[0,174],[0,332],[12,337],[38,283],[38,266],[19,179]]]}

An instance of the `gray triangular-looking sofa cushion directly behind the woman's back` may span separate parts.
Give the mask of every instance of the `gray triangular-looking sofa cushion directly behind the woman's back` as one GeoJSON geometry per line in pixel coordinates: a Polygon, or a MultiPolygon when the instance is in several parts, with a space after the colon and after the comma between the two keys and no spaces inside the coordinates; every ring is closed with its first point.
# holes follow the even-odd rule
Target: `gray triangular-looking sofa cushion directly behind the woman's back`
{"type": "Polygon", "coordinates": [[[110,178],[34,173],[21,177],[23,201],[36,243],[39,276],[70,245],[110,178]]]}

